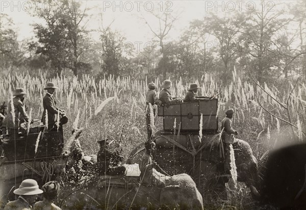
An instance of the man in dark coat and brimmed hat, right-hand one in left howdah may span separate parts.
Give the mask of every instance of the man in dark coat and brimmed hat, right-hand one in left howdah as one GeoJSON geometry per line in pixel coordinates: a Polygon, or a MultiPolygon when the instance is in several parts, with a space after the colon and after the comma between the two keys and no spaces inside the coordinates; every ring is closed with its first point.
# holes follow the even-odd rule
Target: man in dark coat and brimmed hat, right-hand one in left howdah
{"type": "Polygon", "coordinates": [[[60,119],[64,119],[63,121],[61,121],[62,124],[67,123],[68,119],[66,117],[66,112],[60,108],[57,108],[56,106],[56,101],[53,98],[53,94],[55,93],[55,89],[57,89],[58,87],[53,83],[53,82],[49,82],[46,84],[46,86],[44,87],[44,89],[47,91],[46,95],[43,97],[43,113],[42,113],[42,118],[41,118],[41,122],[45,125],[46,123],[46,111],[47,111],[47,115],[48,115],[48,127],[52,127],[56,122],[57,122],[57,117],[58,115],[60,116],[60,119]]]}

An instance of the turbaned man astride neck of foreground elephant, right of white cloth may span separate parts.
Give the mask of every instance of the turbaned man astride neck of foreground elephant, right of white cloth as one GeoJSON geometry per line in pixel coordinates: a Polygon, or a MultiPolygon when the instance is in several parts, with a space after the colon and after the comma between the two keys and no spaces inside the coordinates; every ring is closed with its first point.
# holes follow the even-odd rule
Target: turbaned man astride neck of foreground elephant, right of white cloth
{"type": "Polygon", "coordinates": [[[143,154],[140,162],[140,181],[145,186],[158,186],[164,188],[166,186],[165,175],[155,170],[156,162],[152,161],[152,153],[155,151],[155,143],[146,141],[144,143],[146,152],[143,154]]]}

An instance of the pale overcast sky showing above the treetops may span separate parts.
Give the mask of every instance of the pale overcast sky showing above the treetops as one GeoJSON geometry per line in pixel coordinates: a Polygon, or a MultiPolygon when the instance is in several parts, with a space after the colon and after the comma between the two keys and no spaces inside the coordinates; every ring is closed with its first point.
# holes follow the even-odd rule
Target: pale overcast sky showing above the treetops
{"type": "MultiPolygon", "coordinates": [[[[266,1],[266,9],[273,11],[277,9],[275,5],[282,2],[283,5],[293,1],[266,1]]],[[[46,3],[33,3],[31,1],[0,1],[0,12],[8,14],[16,24],[18,29],[18,40],[34,37],[34,22],[39,22],[39,18],[29,15],[29,11],[36,8],[46,7],[46,3]]],[[[209,11],[224,15],[226,12],[245,11],[260,8],[260,1],[82,1],[82,7],[92,8],[90,14],[92,19],[88,22],[89,29],[98,29],[101,23],[99,13],[103,14],[103,24],[121,32],[128,42],[150,42],[154,34],[150,32],[146,22],[141,17],[146,17],[148,23],[158,28],[158,21],[149,15],[151,9],[161,11],[172,11],[174,15],[180,14],[173,29],[171,29],[168,41],[177,40],[183,29],[187,28],[193,19],[202,19],[209,11]]],[[[98,33],[92,33],[94,39],[98,39],[98,33]]]]}

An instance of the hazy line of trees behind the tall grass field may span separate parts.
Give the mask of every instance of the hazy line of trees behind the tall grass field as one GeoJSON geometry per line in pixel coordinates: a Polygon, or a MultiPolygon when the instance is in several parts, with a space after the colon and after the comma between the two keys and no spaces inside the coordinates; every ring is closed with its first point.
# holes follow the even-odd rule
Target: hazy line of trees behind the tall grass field
{"type": "MultiPolygon", "coordinates": [[[[31,13],[44,23],[33,25],[37,41],[27,40],[23,46],[18,46],[10,17],[0,14],[1,68],[26,65],[49,69],[55,75],[68,69],[75,76],[182,77],[187,81],[205,73],[227,81],[235,68],[241,77],[249,69],[264,82],[295,75],[306,79],[304,1],[275,6],[273,12],[266,9],[269,2],[265,1],[253,11],[208,12],[191,21],[180,38],[171,42],[169,31],[180,13],[154,10],[150,15],[160,23],[159,28],[140,17],[154,36],[140,51],[129,46],[111,24],[98,26],[94,33],[99,34],[99,40],[93,40],[87,29],[90,8],[82,7],[82,1],[60,1],[62,4],[31,13]]],[[[103,13],[100,16],[103,20],[103,13]]]]}

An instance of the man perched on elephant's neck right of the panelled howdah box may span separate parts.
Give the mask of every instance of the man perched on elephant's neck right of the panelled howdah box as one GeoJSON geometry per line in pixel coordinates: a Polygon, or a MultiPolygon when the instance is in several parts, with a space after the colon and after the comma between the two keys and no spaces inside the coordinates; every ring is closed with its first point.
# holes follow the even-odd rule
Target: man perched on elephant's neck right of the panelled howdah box
{"type": "Polygon", "coordinates": [[[225,146],[225,167],[227,170],[231,169],[230,166],[230,144],[234,143],[234,136],[238,135],[238,132],[233,130],[232,128],[232,118],[234,114],[234,109],[228,109],[225,111],[226,116],[221,121],[221,130],[222,130],[222,141],[224,142],[225,146]]]}

